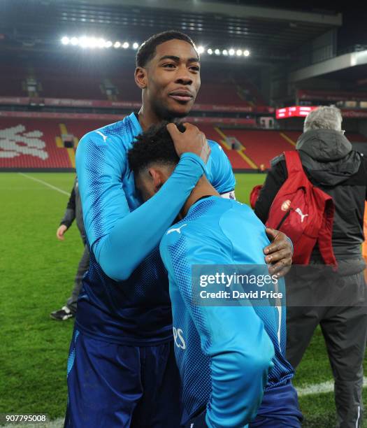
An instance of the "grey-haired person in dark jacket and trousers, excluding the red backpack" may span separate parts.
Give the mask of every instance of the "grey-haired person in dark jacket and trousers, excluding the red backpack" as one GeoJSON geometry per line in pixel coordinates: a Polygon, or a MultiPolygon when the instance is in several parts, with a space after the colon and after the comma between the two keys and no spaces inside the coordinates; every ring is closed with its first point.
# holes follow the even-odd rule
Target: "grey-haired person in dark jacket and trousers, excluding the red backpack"
{"type": "MultiPolygon", "coordinates": [[[[364,203],[367,162],[352,150],[341,129],[340,110],[322,106],[305,118],[296,150],[310,182],[333,198],[332,245],[338,271],[322,267],[315,245],[304,276],[287,282],[287,359],[296,368],[317,325],[326,342],[335,380],[338,427],[363,425],[363,360],[367,338],[364,203]],[[289,302],[290,303],[289,306],[289,302]]],[[[262,222],[268,219],[275,195],[287,180],[284,155],[271,162],[255,206],[262,222]]],[[[293,278],[293,279],[291,279],[293,278]]]]}

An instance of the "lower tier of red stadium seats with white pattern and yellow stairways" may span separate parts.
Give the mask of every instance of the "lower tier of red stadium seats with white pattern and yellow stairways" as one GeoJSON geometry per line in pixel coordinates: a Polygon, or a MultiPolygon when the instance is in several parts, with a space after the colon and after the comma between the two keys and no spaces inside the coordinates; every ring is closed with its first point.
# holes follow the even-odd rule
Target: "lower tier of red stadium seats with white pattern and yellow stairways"
{"type": "MultiPolygon", "coordinates": [[[[57,120],[1,117],[0,168],[71,169],[79,139],[91,129],[113,122],[100,120],[57,120]],[[63,139],[71,141],[65,147],[63,139]],[[69,143],[70,145],[70,143],[69,143]]],[[[217,127],[196,123],[208,139],[220,143],[233,169],[269,168],[271,159],[285,150],[294,150],[301,131],[275,131],[217,127]]],[[[366,136],[347,133],[352,143],[367,143],[366,136]]],[[[356,147],[356,150],[361,150],[356,147]]]]}

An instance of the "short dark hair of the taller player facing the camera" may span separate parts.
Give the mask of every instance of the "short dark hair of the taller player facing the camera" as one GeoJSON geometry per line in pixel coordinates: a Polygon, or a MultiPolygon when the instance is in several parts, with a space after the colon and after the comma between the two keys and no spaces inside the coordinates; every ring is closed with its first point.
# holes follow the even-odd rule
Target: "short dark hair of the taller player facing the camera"
{"type": "MultiPolygon", "coordinates": [[[[164,43],[166,41],[170,40],[183,40],[196,50],[195,43],[192,41],[192,38],[187,36],[187,34],[181,33],[181,31],[164,31],[163,33],[154,34],[150,38],[148,38],[145,42],[143,42],[140,47],[138,48],[138,52],[136,52],[136,66],[137,67],[145,67],[147,62],[152,59],[155,55],[155,49],[158,45],[161,45],[161,43],[164,43]]],[[[197,50],[196,50],[197,52],[197,50]]],[[[198,53],[199,58],[199,53],[198,53]]]]}

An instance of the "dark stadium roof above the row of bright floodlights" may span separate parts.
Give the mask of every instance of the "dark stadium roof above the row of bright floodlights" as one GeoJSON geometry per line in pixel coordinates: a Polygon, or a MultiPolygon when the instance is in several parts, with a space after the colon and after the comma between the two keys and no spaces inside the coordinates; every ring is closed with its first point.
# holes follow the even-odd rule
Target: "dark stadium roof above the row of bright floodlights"
{"type": "Polygon", "coordinates": [[[0,49],[52,49],[64,34],[141,42],[158,31],[178,29],[198,44],[247,48],[255,57],[271,61],[289,58],[295,48],[341,24],[341,14],[331,11],[229,1],[3,0],[0,49]]]}

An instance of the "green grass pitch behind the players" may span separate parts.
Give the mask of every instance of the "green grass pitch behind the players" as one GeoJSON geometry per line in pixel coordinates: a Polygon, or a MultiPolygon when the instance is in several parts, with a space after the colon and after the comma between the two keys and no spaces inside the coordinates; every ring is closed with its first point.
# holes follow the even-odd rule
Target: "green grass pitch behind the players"
{"type": "MultiPolygon", "coordinates": [[[[27,173],[70,192],[72,173],[27,173]]],[[[237,174],[236,196],[248,202],[264,174],[237,174]]],[[[66,406],[66,359],[73,322],[56,322],[50,312],[69,297],[82,253],[78,229],[64,242],[55,236],[68,197],[17,173],[0,173],[0,413],[48,413],[66,406]]],[[[317,329],[295,385],[331,380],[321,331],[317,329]]],[[[333,394],[300,399],[305,427],[335,425],[333,394]]],[[[366,403],[365,403],[366,406],[366,403]]]]}

